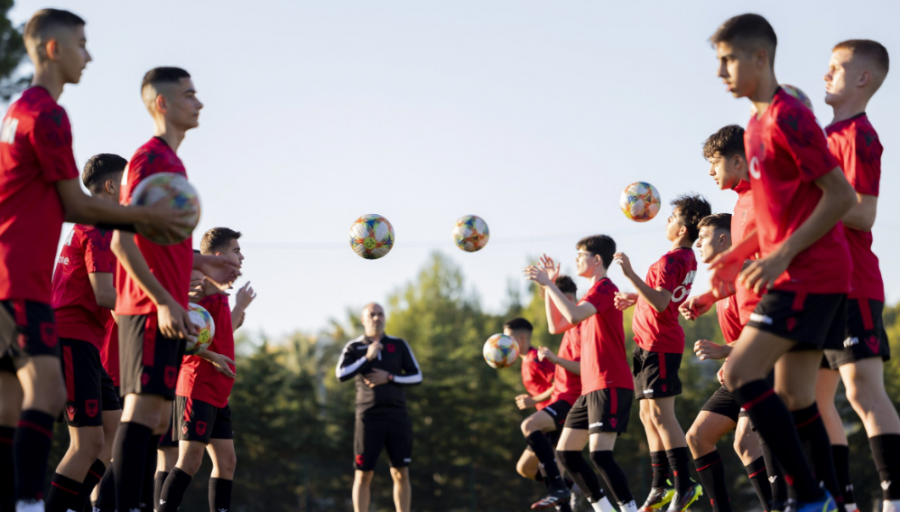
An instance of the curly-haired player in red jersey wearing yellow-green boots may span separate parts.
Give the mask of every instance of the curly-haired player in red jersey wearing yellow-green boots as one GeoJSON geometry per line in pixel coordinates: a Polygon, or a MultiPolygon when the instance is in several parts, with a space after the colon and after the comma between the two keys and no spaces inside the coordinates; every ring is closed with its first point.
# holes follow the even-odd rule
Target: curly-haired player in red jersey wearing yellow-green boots
{"type": "Polygon", "coordinates": [[[691,293],[697,273],[697,259],[691,248],[699,235],[697,224],[711,209],[697,195],[679,196],[672,206],[674,210],[666,222],[666,238],[672,242],[672,249],[650,267],[646,281],[631,267],[626,254],[616,254],[625,278],[638,290],[616,295],[616,307],[624,311],[636,305],[632,329],[637,346],[632,373],[653,465],[650,495],[641,510],[659,510],[671,502],[668,510],[681,512],[697,501],[703,488],[691,481],[687,441],[675,417],[675,397],[681,394],[678,369],[684,354],[678,306],[691,293]],[[666,489],[670,467],[674,495],[666,489]]]}

